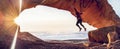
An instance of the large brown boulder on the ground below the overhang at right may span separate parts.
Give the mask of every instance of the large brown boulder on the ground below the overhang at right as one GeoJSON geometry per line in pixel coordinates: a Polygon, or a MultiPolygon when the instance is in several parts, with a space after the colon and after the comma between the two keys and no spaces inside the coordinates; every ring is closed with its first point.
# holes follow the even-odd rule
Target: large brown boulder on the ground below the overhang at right
{"type": "Polygon", "coordinates": [[[108,43],[119,39],[120,27],[109,26],[90,31],[88,33],[90,42],[108,43]]]}

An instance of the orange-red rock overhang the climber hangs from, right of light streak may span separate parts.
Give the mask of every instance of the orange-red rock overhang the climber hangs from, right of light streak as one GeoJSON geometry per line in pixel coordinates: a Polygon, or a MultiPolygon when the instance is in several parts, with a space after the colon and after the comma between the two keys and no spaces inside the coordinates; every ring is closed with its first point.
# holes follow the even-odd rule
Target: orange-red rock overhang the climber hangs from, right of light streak
{"type": "Polygon", "coordinates": [[[45,5],[68,10],[73,15],[75,15],[73,8],[76,8],[79,12],[83,12],[84,22],[97,28],[120,24],[120,18],[115,14],[107,0],[25,0],[23,2],[25,4],[23,9],[45,5]]]}

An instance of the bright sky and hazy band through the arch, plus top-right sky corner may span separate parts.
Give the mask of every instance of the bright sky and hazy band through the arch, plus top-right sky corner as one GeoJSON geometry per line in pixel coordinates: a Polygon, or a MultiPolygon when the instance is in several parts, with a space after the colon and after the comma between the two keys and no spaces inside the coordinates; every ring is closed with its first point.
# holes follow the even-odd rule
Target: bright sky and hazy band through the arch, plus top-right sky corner
{"type": "MultiPolygon", "coordinates": [[[[120,16],[120,1],[108,0],[113,9],[120,16]]],[[[76,27],[76,18],[65,10],[53,7],[38,5],[20,13],[16,19],[21,31],[27,31],[41,39],[65,40],[65,39],[86,39],[87,32],[97,28],[83,23],[87,31],[76,27]]]]}

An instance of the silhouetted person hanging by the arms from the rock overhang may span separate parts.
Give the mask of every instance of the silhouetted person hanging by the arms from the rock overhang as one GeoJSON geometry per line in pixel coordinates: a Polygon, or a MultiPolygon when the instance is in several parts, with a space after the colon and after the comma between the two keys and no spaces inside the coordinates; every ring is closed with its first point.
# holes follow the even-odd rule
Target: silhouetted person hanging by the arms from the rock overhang
{"type": "Polygon", "coordinates": [[[77,18],[77,22],[76,22],[76,26],[80,29],[80,31],[81,31],[81,27],[79,26],[79,24],[84,28],[84,30],[86,31],[86,28],[84,27],[84,25],[82,24],[82,18],[81,18],[81,15],[83,14],[83,13],[79,13],[75,8],[74,8],[74,10],[75,10],[75,14],[76,14],[76,18],[77,18]]]}

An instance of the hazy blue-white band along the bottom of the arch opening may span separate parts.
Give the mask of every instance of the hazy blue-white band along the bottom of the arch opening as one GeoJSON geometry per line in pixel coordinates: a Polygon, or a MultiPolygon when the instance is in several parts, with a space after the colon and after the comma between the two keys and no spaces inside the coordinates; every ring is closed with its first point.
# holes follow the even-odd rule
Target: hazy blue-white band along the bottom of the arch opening
{"type": "Polygon", "coordinates": [[[51,33],[37,33],[31,32],[32,35],[40,38],[42,40],[80,40],[80,39],[87,39],[88,38],[88,31],[86,32],[74,32],[74,33],[58,33],[58,34],[51,34],[51,33]]]}

